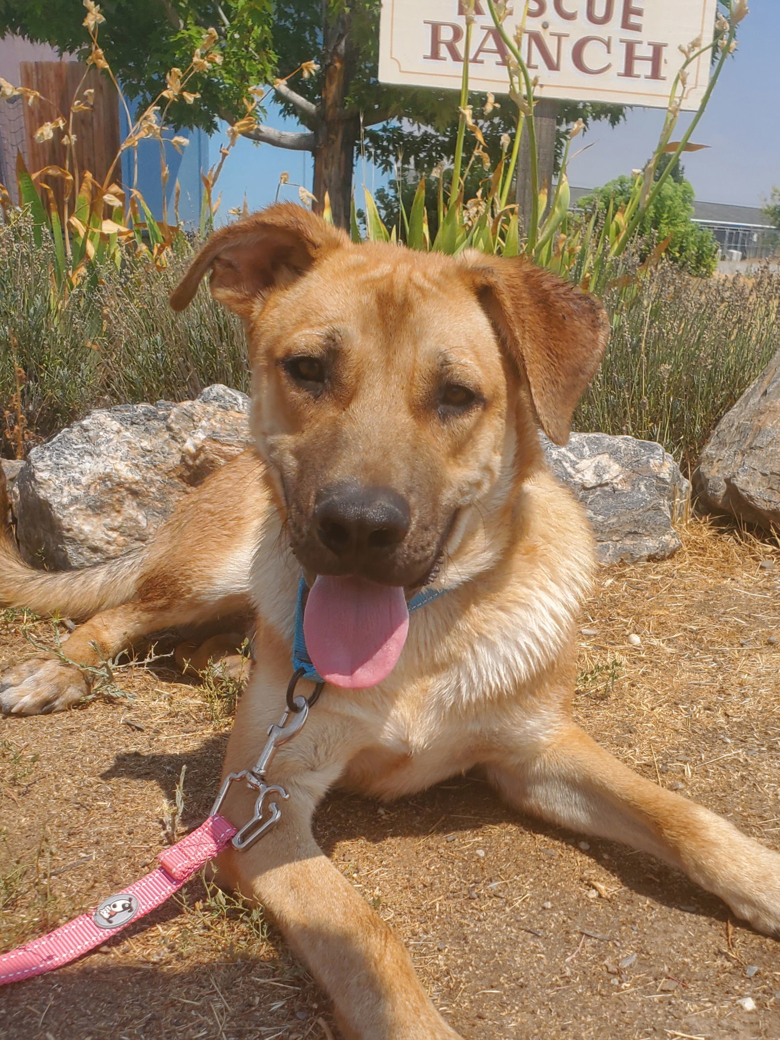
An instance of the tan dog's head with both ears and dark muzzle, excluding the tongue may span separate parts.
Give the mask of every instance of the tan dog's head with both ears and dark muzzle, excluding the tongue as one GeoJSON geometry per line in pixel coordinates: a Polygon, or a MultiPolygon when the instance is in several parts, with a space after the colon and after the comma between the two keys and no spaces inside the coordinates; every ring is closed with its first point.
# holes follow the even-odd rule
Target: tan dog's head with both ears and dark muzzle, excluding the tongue
{"type": "Polygon", "coordinates": [[[524,259],[356,245],[277,205],[214,234],[172,296],[243,319],[258,449],[309,577],[431,580],[565,443],[605,340],[602,308],[524,259]]]}

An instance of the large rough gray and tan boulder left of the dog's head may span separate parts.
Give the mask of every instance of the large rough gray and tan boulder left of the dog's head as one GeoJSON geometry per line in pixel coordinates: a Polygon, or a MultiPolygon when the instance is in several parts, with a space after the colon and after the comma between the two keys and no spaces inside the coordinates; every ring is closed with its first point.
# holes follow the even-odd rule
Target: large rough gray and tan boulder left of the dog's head
{"type": "Polygon", "coordinates": [[[249,397],[212,386],[180,405],[98,409],[33,448],[11,491],[25,558],[56,569],[121,556],[250,445],[249,397]]]}

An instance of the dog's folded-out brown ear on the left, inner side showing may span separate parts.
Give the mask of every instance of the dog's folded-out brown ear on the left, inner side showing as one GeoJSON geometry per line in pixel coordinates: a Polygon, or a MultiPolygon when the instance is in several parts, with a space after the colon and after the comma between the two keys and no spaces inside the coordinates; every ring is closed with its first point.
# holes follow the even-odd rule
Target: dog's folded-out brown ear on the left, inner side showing
{"type": "Polygon", "coordinates": [[[171,293],[171,306],[183,311],[210,269],[214,298],[246,317],[258,296],[293,282],[326,253],[347,243],[343,231],[302,206],[269,206],[210,236],[171,293]]]}

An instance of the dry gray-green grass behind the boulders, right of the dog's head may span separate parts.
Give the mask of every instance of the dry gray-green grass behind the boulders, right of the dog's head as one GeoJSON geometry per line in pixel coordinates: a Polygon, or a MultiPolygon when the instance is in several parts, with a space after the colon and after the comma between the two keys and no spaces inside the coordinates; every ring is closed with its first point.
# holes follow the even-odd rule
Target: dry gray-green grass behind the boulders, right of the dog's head
{"type": "MultiPolygon", "coordinates": [[[[630,264],[629,270],[630,270],[630,264]]],[[[780,275],[691,278],[661,263],[608,289],[612,335],[576,428],[658,441],[692,467],[717,422],[780,349],[780,275]]]]}

